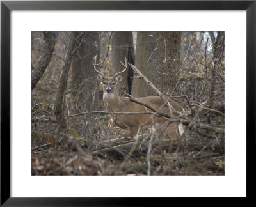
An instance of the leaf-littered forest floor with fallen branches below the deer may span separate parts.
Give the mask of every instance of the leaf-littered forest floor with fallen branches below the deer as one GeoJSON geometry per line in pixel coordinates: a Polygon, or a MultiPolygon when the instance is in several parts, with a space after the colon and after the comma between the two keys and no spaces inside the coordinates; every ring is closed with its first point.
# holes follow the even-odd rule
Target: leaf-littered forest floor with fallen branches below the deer
{"type": "MultiPolygon", "coordinates": [[[[149,130],[138,142],[111,132],[106,114],[68,119],[68,136],[83,152],[58,139],[58,125],[49,105],[32,110],[32,175],[224,175],[224,139],[185,132],[181,139],[159,141],[149,130]],[[76,123],[76,125],[74,124],[76,123]],[[79,123],[79,124],[78,124],[79,123]],[[132,146],[136,148],[125,158],[132,146]]],[[[206,132],[205,132],[206,133],[206,132]]],[[[61,138],[61,137],[59,137],[61,138]]],[[[62,137],[63,138],[63,137],[62,137]]]]}

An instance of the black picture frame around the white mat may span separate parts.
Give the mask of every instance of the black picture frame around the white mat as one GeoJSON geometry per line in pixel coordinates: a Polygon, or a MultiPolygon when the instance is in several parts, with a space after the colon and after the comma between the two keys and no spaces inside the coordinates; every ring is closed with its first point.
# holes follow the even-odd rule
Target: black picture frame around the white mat
{"type": "MultiPolygon", "coordinates": [[[[149,206],[170,198],[10,197],[10,12],[12,10],[246,10],[246,198],[255,175],[256,2],[253,1],[1,1],[1,206],[149,206]]],[[[236,60],[234,60],[236,61],[236,60]]],[[[239,98],[239,95],[237,95],[239,98]]],[[[237,112],[239,106],[237,106],[237,112]]],[[[239,120],[237,120],[239,121],[239,120]]],[[[237,166],[239,167],[239,166],[237,166]]]]}

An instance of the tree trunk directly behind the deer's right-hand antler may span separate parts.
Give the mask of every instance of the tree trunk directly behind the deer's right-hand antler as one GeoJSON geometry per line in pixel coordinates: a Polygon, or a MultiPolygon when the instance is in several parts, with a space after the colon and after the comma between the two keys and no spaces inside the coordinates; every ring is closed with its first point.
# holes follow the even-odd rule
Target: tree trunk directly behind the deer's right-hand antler
{"type": "MultiPolygon", "coordinates": [[[[134,47],[132,32],[115,32],[112,39],[112,60],[113,60],[113,70],[112,74],[118,73],[124,70],[124,67],[119,61],[125,63],[125,57],[129,63],[134,64],[134,47]]],[[[111,74],[111,75],[112,75],[111,74]]],[[[132,77],[133,72],[130,66],[128,71],[123,73],[124,79],[122,82],[118,83],[116,88],[119,91],[119,95],[127,96],[125,93],[131,94],[132,77]],[[125,91],[123,93],[122,91],[125,91]]]]}

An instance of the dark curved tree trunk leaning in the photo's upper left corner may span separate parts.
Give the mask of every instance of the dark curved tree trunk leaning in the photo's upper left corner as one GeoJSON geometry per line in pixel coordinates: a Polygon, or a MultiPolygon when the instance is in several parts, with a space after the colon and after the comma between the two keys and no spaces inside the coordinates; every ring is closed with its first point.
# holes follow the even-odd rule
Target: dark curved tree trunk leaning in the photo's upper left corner
{"type": "Polygon", "coordinates": [[[36,63],[35,68],[33,68],[31,73],[31,85],[32,89],[35,88],[36,84],[42,77],[45,72],[45,69],[49,65],[52,53],[54,51],[56,41],[56,33],[55,32],[44,32],[44,48],[42,52],[42,56],[40,57],[38,63],[36,63]]]}

